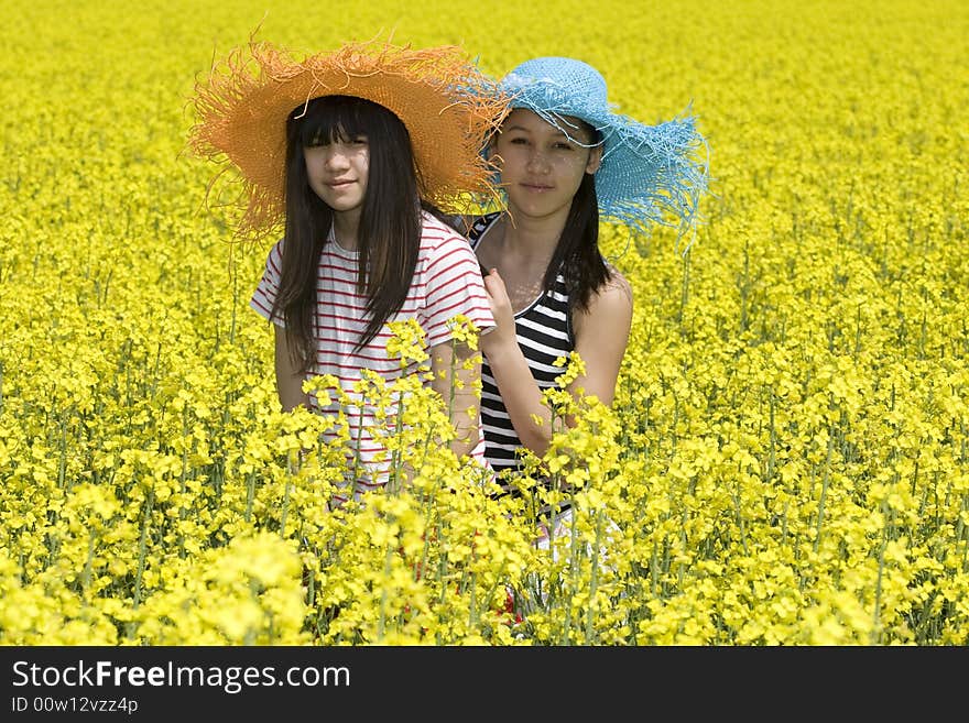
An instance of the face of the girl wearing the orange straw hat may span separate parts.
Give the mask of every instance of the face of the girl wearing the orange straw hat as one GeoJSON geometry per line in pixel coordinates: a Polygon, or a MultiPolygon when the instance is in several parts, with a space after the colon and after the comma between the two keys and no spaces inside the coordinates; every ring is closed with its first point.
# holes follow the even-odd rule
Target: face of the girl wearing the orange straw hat
{"type": "Polygon", "coordinates": [[[309,187],[335,213],[359,215],[367,195],[370,145],[367,138],[337,139],[303,149],[309,187]]]}

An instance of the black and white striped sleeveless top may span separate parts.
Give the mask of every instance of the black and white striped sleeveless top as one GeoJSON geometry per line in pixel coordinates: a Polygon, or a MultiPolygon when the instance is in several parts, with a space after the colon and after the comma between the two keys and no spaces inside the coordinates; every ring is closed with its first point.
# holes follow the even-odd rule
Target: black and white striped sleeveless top
{"type": "MultiPolygon", "coordinates": [[[[476,219],[468,231],[472,249],[477,249],[479,241],[499,216],[500,212],[494,212],[476,219]]],[[[568,294],[560,273],[551,292],[543,292],[532,304],[515,314],[515,333],[538,388],[544,391],[557,386],[555,377],[562,375],[565,368],[554,366],[553,362],[559,357],[568,357],[575,349],[568,294]]],[[[498,393],[498,385],[487,360],[481,368],[481,421],[484,429],[484,457],[491,467],[496,472],[518,470],[521,467],[519,451],[522,442],[498,393]]]]}

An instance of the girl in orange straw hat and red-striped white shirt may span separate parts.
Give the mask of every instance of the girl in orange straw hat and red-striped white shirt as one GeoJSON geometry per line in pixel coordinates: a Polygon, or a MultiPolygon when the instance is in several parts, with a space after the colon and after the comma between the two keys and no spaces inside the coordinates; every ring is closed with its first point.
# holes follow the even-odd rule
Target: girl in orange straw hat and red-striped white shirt
{"type": "Polygon", "coordinates": [[[487,467],[480,359],[465,369],[472,352],[453,346],[448,321],[464,315],[481,331],[494,322],[467,240],[434,212],[493,193],[480,139],[504,103],[482,88],[489,81],[457,48],[377,43],[303,61],[252,44],[197,88],[194,149],[238,171],[239,234],[281,234],[250,303],[274,325],[280,402],[335,412],[338,402],[303,391],[324,374],[353,402],[342,407],[352,440],[337,504],[388,479],[379,410],[355,387],[367,370],[386,382],[416,371],[389,358],[390,321],[420,324],[431,384],[445,399],[454,387],[451,448],[487,467]]]}

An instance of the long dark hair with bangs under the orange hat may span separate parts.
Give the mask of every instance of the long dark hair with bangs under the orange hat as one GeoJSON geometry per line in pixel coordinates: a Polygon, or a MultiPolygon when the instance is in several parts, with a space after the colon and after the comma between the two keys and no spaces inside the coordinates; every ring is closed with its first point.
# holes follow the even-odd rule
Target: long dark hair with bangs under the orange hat
{"type": "Polygon", "coordinates": [[[290,353],[308,371],[316,357],[317,266],[334,212],[309,187],[304,147],[368,139],[367,191],[358,228],[358,293],[367,297],[367,327],[357,349],[403,306],[421,244],[422,183],[403,122],[378,103],[324,96],[286,119],[286,226],[273,314],[284,320],[290,353]]]}

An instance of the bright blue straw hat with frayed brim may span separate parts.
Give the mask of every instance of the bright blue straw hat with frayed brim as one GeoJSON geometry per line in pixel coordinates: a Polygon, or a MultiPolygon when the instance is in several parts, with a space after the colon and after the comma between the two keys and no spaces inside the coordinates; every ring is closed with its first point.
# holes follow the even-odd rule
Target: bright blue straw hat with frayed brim
{"type": "Polygon", "coordinates": [[[709,171],[707,143],[694,117],[646,125],[613,112],[602,75],[567,57],[526,61],[501,80],[500,90],[511,97],[511,108],[534,111],[579,145],[588,147],[565,117],[599,131],[602,163],[596,194],[603,219],[640,233],[653,223],[678,227],[681,235],[695,229],[709,171]]]}

